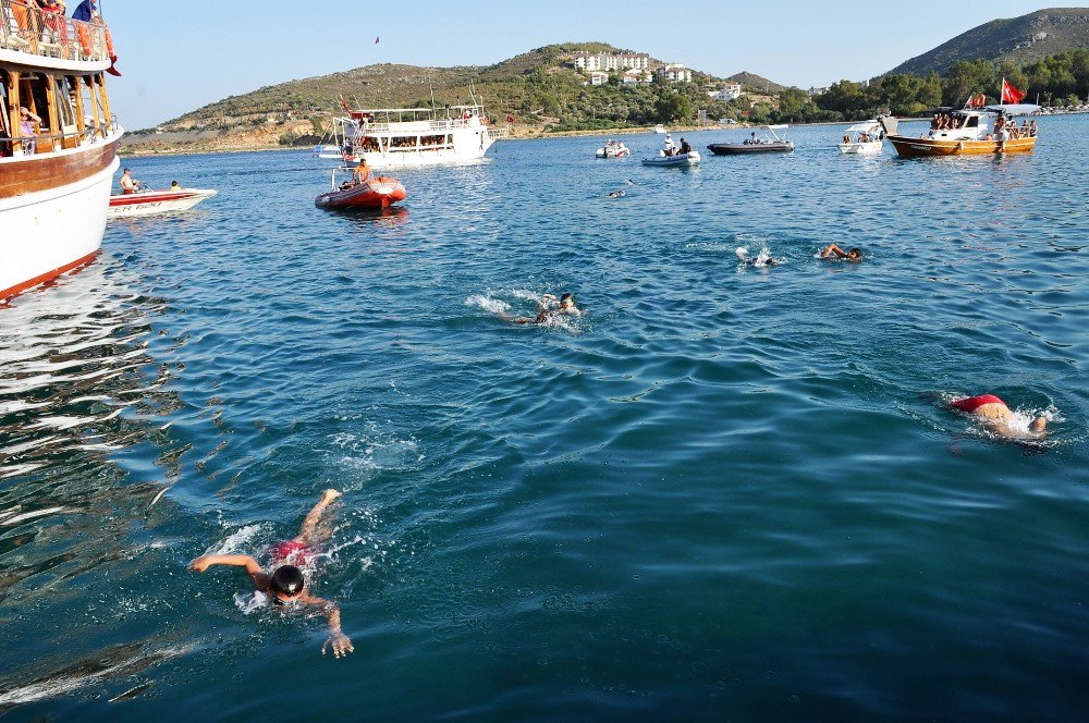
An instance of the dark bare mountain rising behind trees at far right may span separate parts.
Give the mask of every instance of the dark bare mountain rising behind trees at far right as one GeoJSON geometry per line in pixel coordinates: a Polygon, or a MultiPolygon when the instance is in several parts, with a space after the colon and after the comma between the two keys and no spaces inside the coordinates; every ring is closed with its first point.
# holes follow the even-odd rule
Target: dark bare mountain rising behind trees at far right
{"type": "Polygon", "coordinates": [[[993,20],[901,63],[890,73],[942,74],[962,60],[1010,60],[1021,64],[1073,48],[1089,48],[1089,8],[1049,8],[993,20]]]}

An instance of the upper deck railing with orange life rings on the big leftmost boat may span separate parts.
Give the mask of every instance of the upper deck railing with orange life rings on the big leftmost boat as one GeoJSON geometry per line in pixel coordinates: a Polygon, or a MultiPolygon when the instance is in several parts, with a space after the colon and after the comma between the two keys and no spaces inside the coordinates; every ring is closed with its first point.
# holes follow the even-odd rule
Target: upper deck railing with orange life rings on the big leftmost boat
{"type": "Polygon", "coordinates": [[[112,54],[106,25],[48,12],[24,0],[0,0],[0,50],[41,58],[100,62],[112,54]]]}

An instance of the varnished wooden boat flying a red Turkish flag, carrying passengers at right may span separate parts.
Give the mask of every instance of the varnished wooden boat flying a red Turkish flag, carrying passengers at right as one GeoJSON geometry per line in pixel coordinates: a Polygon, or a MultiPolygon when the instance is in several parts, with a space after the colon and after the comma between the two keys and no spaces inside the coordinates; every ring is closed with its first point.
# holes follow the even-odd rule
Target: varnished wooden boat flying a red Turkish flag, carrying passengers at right
{"type": "Polygon", "coordinates": [[[996,154],[1030,154],[1036,148],[1036,121],[1017,117],[1030,115],[1039,106],[1021,103],[1025,93],[1002,78],[1001,102],[987,105],[983,94],[974,94],[964,108],[935,109],[930,130],[918,138],[897,133],[894,118],[880,119],[885,137],[896,152],[905,158],[928,156],[994,156],[996,154]]]}

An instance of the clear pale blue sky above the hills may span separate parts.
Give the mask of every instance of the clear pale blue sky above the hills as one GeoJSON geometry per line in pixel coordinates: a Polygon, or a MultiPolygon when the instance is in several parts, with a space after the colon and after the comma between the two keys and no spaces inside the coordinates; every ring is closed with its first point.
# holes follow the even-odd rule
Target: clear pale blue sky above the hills
{"type": "MultiPolygon", "coordinates": [[[[70,0],[70,13],[76,2],[70,0]]],[[[1054,0],[100,0],[124,74],[110,83],[110,98],[130,128],[293,78],[383,62],[490,65],[566,41],[609,42],[718,76],[749,71],[784,85],[827,86],[892,70],[996,17],[1078,5],[1054,0]]]]}

